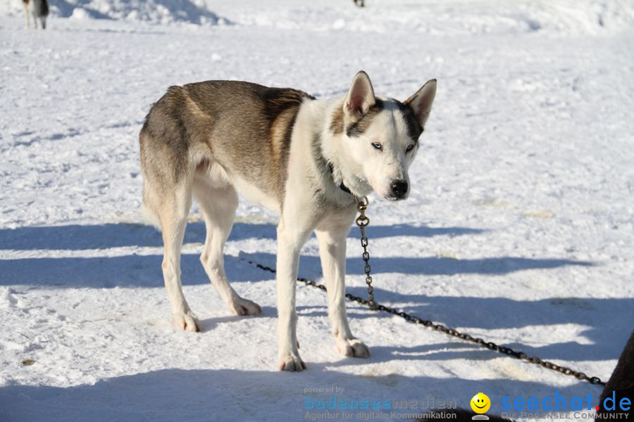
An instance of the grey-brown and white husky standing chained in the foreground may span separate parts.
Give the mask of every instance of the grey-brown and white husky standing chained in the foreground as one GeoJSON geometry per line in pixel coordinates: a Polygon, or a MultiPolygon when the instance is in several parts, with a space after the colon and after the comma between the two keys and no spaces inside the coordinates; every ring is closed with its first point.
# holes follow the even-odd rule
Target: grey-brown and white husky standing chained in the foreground
{"type": "Polygon", "coordinates": [[[180,284],[192,195],[205,221],[200,260],[211,283],[235,314],[261,312],[233,290],[223,267],[223,247],[241,193],[280,215],[279,368],[306,368],[297,351],[295,285],[299,251],[313,231],[335,345],[346,356],[368,357],[368,347],[352,335],[346,316],[346,236],[357,198],[371,191],[387,200],[407,198],[407,171],[435,92],[432,79],[404,103],[378,98],[363,71],[344,98],[333,100],[249,82],[170,87],[151,107],[139,141],[143,203],[163,234],[163,278],[175,326],[199,331],[180,284]]]}

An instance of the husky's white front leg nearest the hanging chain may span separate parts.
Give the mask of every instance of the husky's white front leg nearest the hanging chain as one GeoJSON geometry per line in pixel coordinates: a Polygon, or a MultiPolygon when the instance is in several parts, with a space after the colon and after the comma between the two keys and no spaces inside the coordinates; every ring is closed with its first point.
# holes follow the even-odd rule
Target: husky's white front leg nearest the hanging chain
{"type": "Polygon", "coordinates": [[[335,346],[341,354],[369,357],[370,350],[354,338],[346,316],[346,237],[354,218],[351,212],[339,218],[327,218],[316,229],[319,257],[326,288],[328,288],[328,317],[335,335],[335,346]]]}

